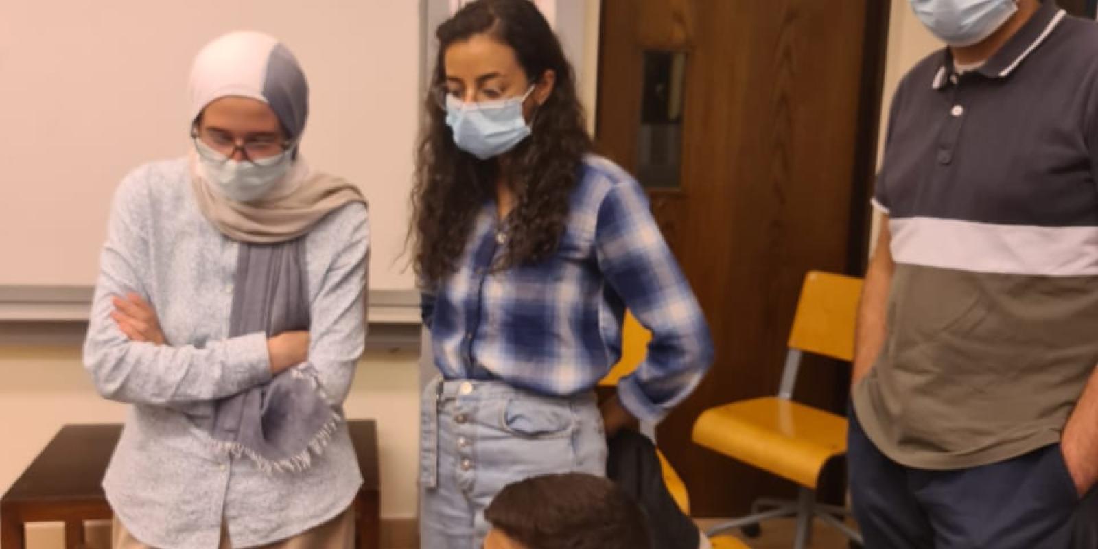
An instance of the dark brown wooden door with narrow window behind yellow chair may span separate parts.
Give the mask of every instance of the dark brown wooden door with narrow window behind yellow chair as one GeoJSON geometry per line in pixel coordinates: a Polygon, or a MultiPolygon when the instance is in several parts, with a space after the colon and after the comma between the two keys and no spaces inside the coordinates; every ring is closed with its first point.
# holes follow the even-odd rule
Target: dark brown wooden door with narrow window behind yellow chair
{"type": "MultiPolygon", "coordinates": [[[[717,347],[659,428],[698,516],[794,493],[691,428],[707,407],[776,393],[807,270],[860,272],[888,3],[603,2],[598,145],[649,188],[717,347]]],[[[842,412],[848,368],[807,366],[797,399],[842,412]]]]}

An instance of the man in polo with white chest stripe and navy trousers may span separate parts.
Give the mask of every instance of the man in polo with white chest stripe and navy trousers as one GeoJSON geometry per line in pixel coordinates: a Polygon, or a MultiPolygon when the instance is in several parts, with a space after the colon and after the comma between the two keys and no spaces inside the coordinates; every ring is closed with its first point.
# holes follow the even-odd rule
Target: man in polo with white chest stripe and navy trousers
{"type": "Polygon", "coordinates": [[[949,47],[889,115],[855,515],[873,549],[1098,547],[1098,25],[1054,0],[910,2],[949,47]]]}

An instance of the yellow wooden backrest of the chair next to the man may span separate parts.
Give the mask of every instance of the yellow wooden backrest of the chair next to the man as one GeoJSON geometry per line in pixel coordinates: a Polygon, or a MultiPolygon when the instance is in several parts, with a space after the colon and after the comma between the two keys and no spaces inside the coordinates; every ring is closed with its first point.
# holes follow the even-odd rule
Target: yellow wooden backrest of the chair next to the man
{"type": "Polygon", "coordinates": [[[789,348],[840,360],[854,358],[862,279],[809,271],[800,287],[789,348]]]}

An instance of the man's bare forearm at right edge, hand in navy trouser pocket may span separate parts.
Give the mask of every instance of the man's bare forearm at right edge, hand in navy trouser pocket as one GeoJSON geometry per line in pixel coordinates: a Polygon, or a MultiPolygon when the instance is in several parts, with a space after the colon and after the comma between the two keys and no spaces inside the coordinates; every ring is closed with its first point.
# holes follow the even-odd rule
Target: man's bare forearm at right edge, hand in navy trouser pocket
{"type": "Polygon", "coordinates": [[[1061,450],[1079,495],[1086,494],[1098,482],[1098,368],[1067,418],[1061,450]]]}

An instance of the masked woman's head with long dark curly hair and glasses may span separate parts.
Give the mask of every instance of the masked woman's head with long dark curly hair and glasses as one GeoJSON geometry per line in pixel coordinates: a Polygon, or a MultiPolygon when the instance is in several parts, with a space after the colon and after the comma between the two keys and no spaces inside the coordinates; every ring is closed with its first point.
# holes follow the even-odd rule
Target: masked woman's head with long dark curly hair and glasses
{"type": "Polygon", "coordinates": [[[478,0],[437,32],[412,192],[416,272],[451,274],[498,186],[514,195],[501,267],[557,250],[592,149],[571,65],[529,0],[478,0]]]}

